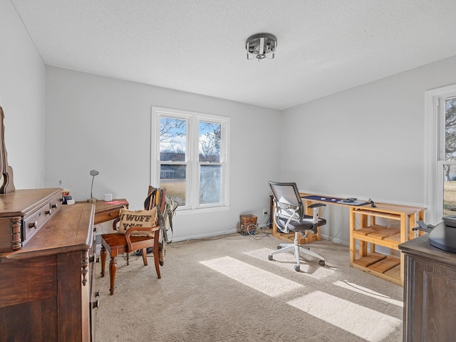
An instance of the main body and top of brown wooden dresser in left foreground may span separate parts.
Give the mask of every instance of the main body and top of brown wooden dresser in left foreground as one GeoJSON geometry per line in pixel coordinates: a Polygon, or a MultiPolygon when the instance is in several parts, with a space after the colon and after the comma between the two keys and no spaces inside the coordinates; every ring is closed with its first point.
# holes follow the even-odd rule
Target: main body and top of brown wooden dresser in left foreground
{"type": "Polygon", "coordinates": [[[62,205],[24,246],[0,252],[1,341],[95,341],[94,213],[92,203],[62,205]]]}

